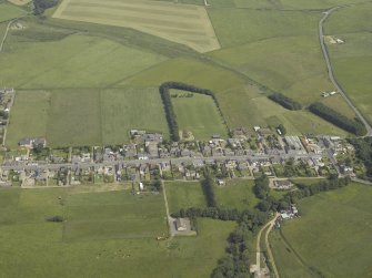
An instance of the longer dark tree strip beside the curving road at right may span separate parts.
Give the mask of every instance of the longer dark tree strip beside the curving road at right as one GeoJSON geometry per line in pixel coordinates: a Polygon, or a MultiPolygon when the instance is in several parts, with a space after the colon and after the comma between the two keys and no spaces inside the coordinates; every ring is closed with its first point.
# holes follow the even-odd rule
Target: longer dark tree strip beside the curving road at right
{"type": "Polygon", "coordinates": [[[358,136],[364,135],[366,133],[365,126],[360,122],[359,119],[351,120],[334,111],[333,109],[324,105],[323,103],[315,102],[309,106],[309,110],[320,117],[358,136]]]}

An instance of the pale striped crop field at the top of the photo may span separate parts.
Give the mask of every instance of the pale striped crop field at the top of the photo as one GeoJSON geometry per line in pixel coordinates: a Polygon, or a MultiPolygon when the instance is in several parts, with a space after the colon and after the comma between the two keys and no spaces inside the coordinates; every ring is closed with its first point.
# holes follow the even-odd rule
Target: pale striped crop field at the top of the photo
{"type": "Polygon", "coordinates": [[[203,7],[148,0],[64,0],[53,18],[125,27],[185,44],[199,52],[220,48],[203,7]]]}

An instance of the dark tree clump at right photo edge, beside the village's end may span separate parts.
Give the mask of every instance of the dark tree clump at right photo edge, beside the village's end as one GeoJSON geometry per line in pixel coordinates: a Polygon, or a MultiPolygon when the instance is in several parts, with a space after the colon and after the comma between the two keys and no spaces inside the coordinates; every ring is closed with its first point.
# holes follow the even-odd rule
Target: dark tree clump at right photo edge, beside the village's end
{"type": "Polygon", "coordinates": [[[372,137],[350,138],[349,142],[355,147],[355,156],[365,165],[365,177],[372,179],[372,137]]]}

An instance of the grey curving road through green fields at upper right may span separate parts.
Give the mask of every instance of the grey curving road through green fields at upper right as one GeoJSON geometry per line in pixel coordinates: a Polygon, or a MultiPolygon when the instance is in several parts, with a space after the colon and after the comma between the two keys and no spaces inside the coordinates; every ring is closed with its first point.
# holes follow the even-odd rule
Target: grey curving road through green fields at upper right
{"type": "Polygon", "coordinates": [[[342,90],[341,85],[338,83],[338,81],[334,78],[333,74],[333,68],[331,64],[331,60],[324,43],[324,34],[323,34],[323,23],[325,22],[325,20],[328,19],[329,16],[332,14],[332,12],[334,12],[335,10],[340,9],[341,6],[334,7],[328,11],[324,12],[324,17],[319,21],[319,40],[320,40],[320,44],[322,48],[322,52],[323,52],[323,56],[326,63],[326,68],[328,68],[328,75],[330,78],[330,80],[332,81],[333,85],[335,86],[335,89],[340,92],[340,94],[342,95],[342,97],[345,100],[345,102],[348,103],[348,105],[354,111],[354,113],[356,114],[356,116],[362,121],[362,123],[364,124],[365,128],[366,128],[366,134],[365,136],[372,136],[372,127],[371,125],[366,122],[366,120],[364,119],[364,116],[362,115],[362,113],[359,112],[359,110],[354,106],[354,104],[351,102],[351,100],[349,99],[349,96],[345,94],[345,92],[342,90]]]}

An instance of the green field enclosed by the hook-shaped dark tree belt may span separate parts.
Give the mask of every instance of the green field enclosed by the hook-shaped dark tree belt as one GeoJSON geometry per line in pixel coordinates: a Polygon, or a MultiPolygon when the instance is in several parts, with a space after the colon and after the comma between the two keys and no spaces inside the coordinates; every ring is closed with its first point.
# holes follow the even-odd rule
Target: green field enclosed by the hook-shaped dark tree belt
{"type": "Polygon", "coordinates": [[[207,141],[213,134],[228,137],[228,128],[215,106],[213,99],[209,95],[192,94],[192,97],[180,97],[189,92],[172,90],[172,104],[180,131],[192,132],[195,140],[207,141]]]}

